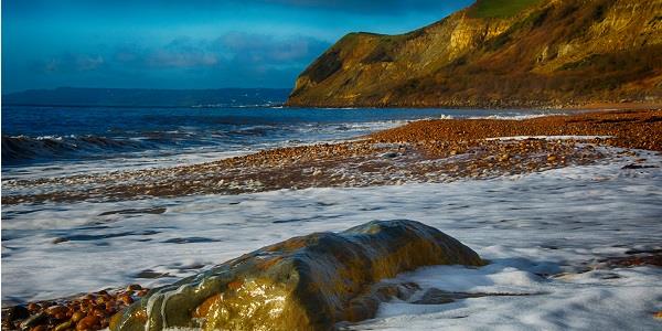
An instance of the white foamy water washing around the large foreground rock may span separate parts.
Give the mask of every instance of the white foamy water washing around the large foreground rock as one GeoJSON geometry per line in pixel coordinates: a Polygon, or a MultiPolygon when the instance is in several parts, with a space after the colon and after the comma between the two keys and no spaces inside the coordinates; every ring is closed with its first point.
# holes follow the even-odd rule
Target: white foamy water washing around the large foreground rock
{"type": "MultiPolygon", "coordinates": [[[[644,157],[645,164],[662,166],[660,157],[644,157]]],[[[602,257],[662,248],[662,170],[621,169],[630,161],[444,184],[4,206],[2,300],[168,284],[291,236],[408,218],[460,239],[492,264],[428,267],[398,278],[449,291],[535,296],[393,301],[353,328],[659,330],[652,318],[662,309],[659,268],[581,274],[602,257]],[[100,215],[153,207],[167,211],[100,215]],[[57,237],[70,242],[54,244],[57,237]],[[173,277],[136,277],[146,269],[173,277]],[[558,273],[567,275],[548,277],[558,273]]]]}

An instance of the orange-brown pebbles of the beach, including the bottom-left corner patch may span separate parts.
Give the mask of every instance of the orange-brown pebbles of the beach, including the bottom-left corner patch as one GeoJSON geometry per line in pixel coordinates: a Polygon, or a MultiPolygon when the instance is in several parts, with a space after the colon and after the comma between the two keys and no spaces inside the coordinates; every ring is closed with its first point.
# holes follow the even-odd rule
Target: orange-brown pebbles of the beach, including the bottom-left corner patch
{"type": "MultiPolygon", "coordinates": [[[[417,185],[440,185],[435,186],[440,189],[448,185],[448,190],[452,190],[457,184],[467,182],[476,182],[480,185],[481,182],[560,173],[565,171],[564,169],[605,168],[618,169],[611,171],[622,173],[644,171],[654,175],[662,167],[661,152],[661,110],[579,113],[519,120],[429,119],[341,142],[268,149],[211,162],[3,181],[2,205],[3,209],[9,209],[9,213],[18,214],[22,206],[30,204],[82,206],[134,201],[136,206],[120,203],[114,210],[98,213],[98,216],[119,217],[118,220],[132,216],[139,217],[137,220],[140,217],[156,220],[167,216],[171,212],[171,206],[150,204],[150,201],[195,200],[196,196],[239,197],[241,201],[252,194],[274,194],[274,192],[290,194],[287,192],[372,190],[371,188],[397,190],[398,186],[417,188],[417,185]],[[613,164],[618,167],[613,168],[613,164]]],[[[426,192],[425,190],[421,192],[426,192]]],[[[651,194],[658,193],[660,192],[651,194]]],[[[321,207],[323,206],[322,204],[321,207]]],[[[653,210],[652,213],[651,217],[654,217],[656,211],[653,210]]],[[[49,215],[58,216],[57,212],[49,215]]],[[[6,227],[4,224],[3,226],[6,227]]],[[[334,229],[335,227],[338,226],[327,224],[314,228],[334,229]]],[[[12,228],[11,225],[9,228],[12,228]]],[[[278,231],[276,237],[287,237],[303,231],[305,228],[295,232],[278,231]]],[[[160,229],[154,231],[154,233],[159,232],[160,229]]],[[[149,231],[146,231],[145,235],[149,236],[149,231]]],[[[109,239],[111,236],[105,238],[109,239]]],[[[182,244],[195,243],[192,238],[194,236],[180,241],[182,244]]],[[[204,239],[206,235],[200,238],[204,239]]],[[[275,238],[260,237],[249,246],[254,247],[271,239],[275,238]]],[[[63,247],[63,245],[75,245],[79,241],[81,237],[62,235],[44,237],[42,242],[44,245],[63,247]]],[[[223,239],[212,238],[207,245],[215,243],[217,247],[223,247],[223,239]]],[[[654,243],[641,243],[640,246],[632,243],[623,247],[622,252],[619,250],[620,253],[600,254],[599,258],[583,256],[581,263],[567,264],[572,267],[554,267],[540,274],[544,274],[544,277],[559,278],[594,269],[659,268],[660,248],[654,243]],[[623,254],[624,252],[630,253],[623,254]]],[[[209,249],[205,248],[205,252],[209,249]]],[[[488,248],[483,247],[484,249],[488,248]]],[[[3,245],[3,254],[6,250],[9,253],[3,245]]],[[[232,248],[216,257],[229,258],[231,254],[243,250],[244,248],[238,250],[232,248]]],[[[581,258],[575,256],[570,259],[581,258]]],[[[106,328],[117,311],[139,300],[147,292],[147,288],[180,276],[191,275],[195,270],[210,266],[212,261],[195,260],[195,263],[199,266],[184,268],[186,271],[183,274],[161,271],[158,268],[127,270],[140,276],[134,276],[135,280],[148,280],[142,285],[121,285],[116,280],[97,287],[99,289],[97,291],[81,288],[78,293],[72,291],[60,298],[30,300],[18,306],[4,307],[3,300],[2,328],[4,330],[106,328]]],[[[659,269],[654,270],[659,273],[659,269]]],[[[121,281],[121,278],[118,280],[121,281]]],[[[3,280],[3,288],[11,284],[3,280]]],[[[654,310],[652,308],[651,311],[642,314],[649,317],[659,314],[654,310]]],[[[384,317],[386,316],[391,314],[386,313],[384,317]]],[[[383,322],[385,320],[377,321],[377,324],[383,322]]],[[[356,327],[361,328],[361,325],[356,327]]]]}

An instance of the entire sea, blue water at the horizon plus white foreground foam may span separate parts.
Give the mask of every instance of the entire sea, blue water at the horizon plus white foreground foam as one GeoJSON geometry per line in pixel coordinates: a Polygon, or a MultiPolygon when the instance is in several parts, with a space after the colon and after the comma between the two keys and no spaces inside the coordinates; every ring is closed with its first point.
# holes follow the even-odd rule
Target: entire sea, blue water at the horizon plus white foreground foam
{"type": "MultiPolygon", "coordinates": [[[[13,193],[9,181],[201,163],[413,120],[549,114],[560,111],[3,106],[1,173],[10,189],[2,195],[13,193]]],[[[653,167],[624,170],[633,160],[615,157],[450,183],[3,205],[2,306],[167,285],[292,236],[404,218],[458,238],[490,265],[427,267],[397,280],[417,282],[418,296],[430,288],[481,296],[446,305],[394,299],[349,329],[659,330],[660,268],[590,267],[662,249],[662,157],[638,158],[653,167]]]]}

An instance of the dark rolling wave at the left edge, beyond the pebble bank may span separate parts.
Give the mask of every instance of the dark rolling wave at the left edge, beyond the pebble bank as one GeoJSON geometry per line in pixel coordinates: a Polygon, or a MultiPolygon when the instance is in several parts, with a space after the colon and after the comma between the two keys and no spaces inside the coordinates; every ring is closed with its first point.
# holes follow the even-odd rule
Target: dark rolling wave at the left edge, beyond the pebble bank
{"type": "Polygon", "coordinates": [[[2,166],[136,151],[145,142],[98,136],[2,136],[2,166]]]}

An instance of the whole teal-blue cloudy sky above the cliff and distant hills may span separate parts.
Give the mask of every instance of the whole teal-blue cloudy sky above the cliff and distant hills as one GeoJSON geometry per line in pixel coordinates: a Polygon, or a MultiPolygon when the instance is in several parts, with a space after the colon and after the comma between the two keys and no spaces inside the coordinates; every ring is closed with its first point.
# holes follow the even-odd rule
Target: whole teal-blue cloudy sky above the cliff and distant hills
{"type": "Polygon", "coordinates": [[[2,0],[2,93],[290,88],[344,34],[404,33],[473,0],[2,0]]]}

